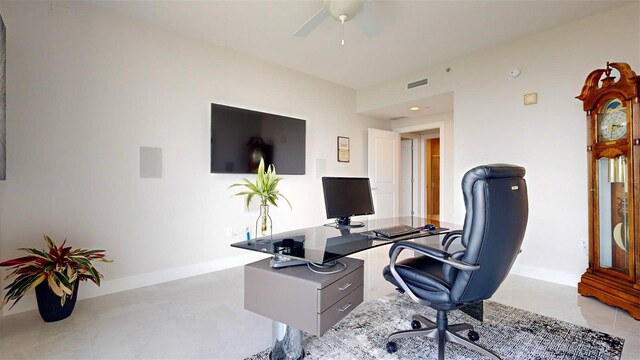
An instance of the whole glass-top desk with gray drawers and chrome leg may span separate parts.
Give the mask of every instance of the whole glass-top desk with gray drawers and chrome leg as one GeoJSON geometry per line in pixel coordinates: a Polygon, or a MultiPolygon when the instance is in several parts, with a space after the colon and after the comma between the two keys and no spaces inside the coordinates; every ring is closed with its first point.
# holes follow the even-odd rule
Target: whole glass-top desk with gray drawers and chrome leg
{"type": "MultiPolygon", "coordinates": [[[[305,292],[303,290],[308,286],[315,286],[315,283],[313,281],[309,281],[309,279],[313,278],[316,275],[311,274],[310,271],[304,271],[306,270],[306,267],[302,269],[303,271],[297,271],[300,270],[296,269],[299,267],[288,268],[289,266],[309,263],[331,264],[340,258],[355,254],[360,251],[373,249],[378,246],[390,245],[394,242],[402,240],[415,240],[421,238],[435,239],[435,237],[437,237],[438,235],[446,234],[451,230],[457,229],[460,229],[459,225],[427,220],[418,217],[396,217],[388,219],[367,220],[364,221],[363,227],[336,228],[334,224],[327,224],[324,226],[321,225],[305,229],[292,230],[258,239],[240,241],[231,244],[232,247],[273,255],[269,264],[267,264],[267,260],[264,259],[245,266],[245,309],[269,317],[274,321],[274,342],[270,358],[301,358],[303,351],[302,330],[300,329],[305,329],[304,331],[309,332],[315,329],[314,326],[318,326],[318,329],[322,328],[323,326],[329,328],[346,314],[348,314],[349,311],[351,311],[350,309],[355,307],[352,306],[352,304],[355,304],[357,306],[360,302],[362,302],[363,286],[354,285],[353,287],[349,287],[352,285],[351,280],[349,280],[347,286],[338,287],[336,290],[342,291],[349,287],[348,291],[351,291],[351,293],[344,296],[342,300],[337,301],[335,305],[332,305],[327,310],[323,310],[321,313],[320,310],[317,309],[319,305],[316,305],[315,303],[313,303],[313,301],[291,301],[291,299],[300,299],[306,296],[304,295],[305,292]],[[375,229],[385,228],[389,226],[409,225],[415,228],[423,228],[426,224],[433,224],[436,226],[436,229],[432,231],[421,230],[419,233],[400,236],[392,239],[378,237],[373,233],[373,230],[375,229]],[[250,278],[249,280],[248,277],[250,278]],[[307,281],[304,282],[307,285],[302,286],[302,283],[295,282],[295,284],[297,285],[291,286],[290,279],[293,277],[307,279],[307,281]],[[359,299],[353,300],[351,299],[351,296],[354,296],[354,298],[357,296],[360,297],[359,299]],[[324,319],[325,316],[324,314],[331,313],[330,310],[334,307],[343,306],[343,304],[341,303],[342,301],[348,301],[348,304],[337,310],[341,312],[341,317],[337,317],[330,323],[324,324],[322,322],[322,319],[324,319]],[[250,303],[249,306],[247,306],[248,303],[250,303]],[[312,311],[309,311],[309,309],[306,308],[305,309],[307,311],[300,310],[305,305],[308,305],[307,303],[311,304],[309,306],[310,308],[312,308],[312,311]],[[292,308],[295,308],[297,310],[293,311],[292,308]],[[295,316],[291,314],[294,314],[295,316]],[[318,323],[315,322],[316,320],[309,321],[311,322],[310,325],[301,319],[316,319],[318,323]],[[310,330],[306,329],[305,327],[309,327],[310,330]]],[[[429,241],[429,244],[424,245],[440,247],[440,243],[438,241],[429,241]]],[[[349,262],[348,259],[343,259],[342,261],[349,262]]],[[[361,262],[361,260],[355,259],[352,259],[352,261],[361,262]]],[[[346,269],[347,266],[345,265],[344,268],[346,269]]],[[[360,269],[362,271],[362,265],[360,265],[360,269]]],[[[352,270],[350,274],[355,273],[356,271],[352,270]]],[[[332,275],[323,274],[320,276],[332,275]]],[[[344,277],[347,278],[350,276],[351,275],[346,275],[344,277]]],[[[333,282],[333,284],[341,285],[342,283],[339,281],[335,281],[333,282]]],[[[336,287],[338,285],[336,285],[336,287]]],[[[326,287],[326,289],[332,289],[332,287],[328,286],[326,287]]],[[[323,296],[326,295],[321,296],[319,294],[324,294],[325,288],[322,288],[322,290],[314,291],[315,292],[313,292],[311,298],[317,299],[317,301],[322,303],[320,299],[324,299],[323,296]]],[[[479,304],[479,310],[464,308],[461,310],[467,312],[476,319],[481,320],[482,303],[479,304]]],[[[317,333],[312,333],[317,336],[321,336],[323,331],[317,331],[317,333]]]]}

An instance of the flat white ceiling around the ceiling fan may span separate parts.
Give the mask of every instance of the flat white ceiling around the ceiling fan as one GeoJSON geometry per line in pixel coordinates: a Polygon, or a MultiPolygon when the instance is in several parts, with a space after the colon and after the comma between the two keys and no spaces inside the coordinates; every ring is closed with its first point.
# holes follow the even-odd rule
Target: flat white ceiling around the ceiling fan
{"type": "Polygon", "coordinates": [[[293,36],[320,0],[89,1],[353,89],[633,2],[371,0],[365,7],[382,32],[368,38],[347,22],[341,46],[333,18],[293,36]]]}

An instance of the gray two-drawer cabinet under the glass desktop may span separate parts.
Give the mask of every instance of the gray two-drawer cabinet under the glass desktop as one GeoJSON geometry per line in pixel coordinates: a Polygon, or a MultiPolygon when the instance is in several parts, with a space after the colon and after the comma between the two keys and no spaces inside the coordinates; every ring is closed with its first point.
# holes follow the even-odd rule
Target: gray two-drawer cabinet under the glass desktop
{"type": "Polygon", "coordinates": [[[269,259],[244,267],[244,308],[322,336],[363,299],[364,261],[341,258],[347,268],[331,275],[306,266],[269,267],[269,259]]]}

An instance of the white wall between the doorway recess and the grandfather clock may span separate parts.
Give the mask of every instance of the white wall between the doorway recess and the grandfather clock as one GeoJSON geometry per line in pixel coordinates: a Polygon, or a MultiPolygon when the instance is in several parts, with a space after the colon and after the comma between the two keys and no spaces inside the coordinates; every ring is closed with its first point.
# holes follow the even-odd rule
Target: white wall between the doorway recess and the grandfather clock
{"type": "Polygon", "coordinates": [[[640,73],[640,4],[359,90],[357,107],[366,111],[454,91],[454,220],[464,217],[458,189],[469,168],[523,165],[529,225],[514,271],[575,285],[587,267],[580,242],[588,232],[585,114],[574,97],[587,75],[607,61],[627,62],[640,73]],[[510,78],[513,68],[522,75],[510,78]],[[409,79],[425,75],[428,87],[405,90],[409,79]],[[528,92],[538,92],[538,105],[523,105],[528,92]]]}

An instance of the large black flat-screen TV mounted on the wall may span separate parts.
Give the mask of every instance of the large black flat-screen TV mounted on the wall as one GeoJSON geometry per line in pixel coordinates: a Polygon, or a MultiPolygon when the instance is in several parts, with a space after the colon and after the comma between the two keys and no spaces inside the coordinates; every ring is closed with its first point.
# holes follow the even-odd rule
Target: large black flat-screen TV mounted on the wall
{"type": "Polygon", "coordinates": [[[258,172],[260,158],[278,174],[304,175],[306,121],[211,104],[211,172],[258,172]]]}

